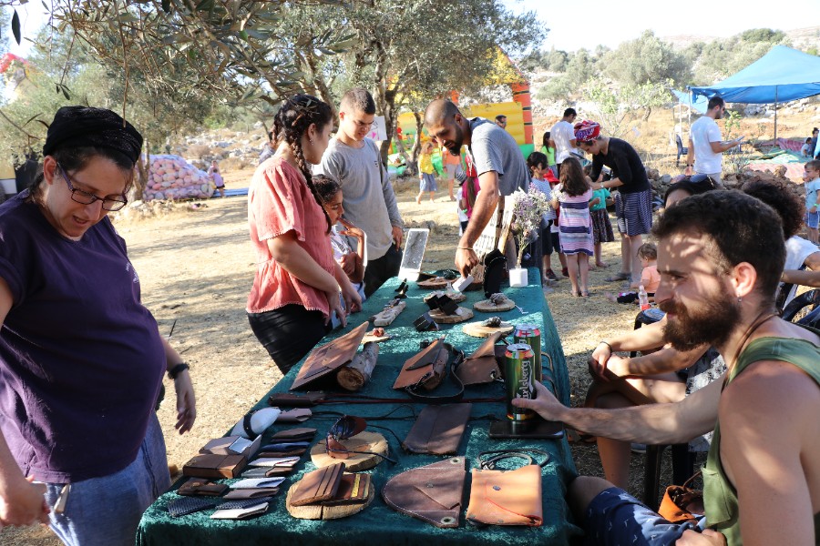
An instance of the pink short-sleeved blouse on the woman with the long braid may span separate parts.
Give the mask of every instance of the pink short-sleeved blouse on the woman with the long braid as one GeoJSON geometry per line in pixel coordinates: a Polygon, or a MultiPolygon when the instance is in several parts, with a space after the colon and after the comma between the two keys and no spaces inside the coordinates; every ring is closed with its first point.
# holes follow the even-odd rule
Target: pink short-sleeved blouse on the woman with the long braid
{"type": "Polygon", "coordinates": [[[289,304],[330,314],[322,290],[306,285],[280,266],[268,249],[268,240],[289,231],[296,234],[317,264],[333,275],[333,250],[327,221],[302,173],[281,157],[257,167],[248,190],[251,244],[256,250],[256,275],[248,295],[249,313],[261,313],[289,304]]]}

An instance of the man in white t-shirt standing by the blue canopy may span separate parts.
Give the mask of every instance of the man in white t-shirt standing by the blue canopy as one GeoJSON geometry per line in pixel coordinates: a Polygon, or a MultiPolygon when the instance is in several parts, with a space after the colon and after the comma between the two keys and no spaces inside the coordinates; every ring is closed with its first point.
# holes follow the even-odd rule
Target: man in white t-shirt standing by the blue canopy
{"type": "Polygon", "coordinates": [[[718,187],[723,187],[723,152],[736,147],[743,141],[743,136],[724,142],[721,140],[721,128],[715,123],[726,112],[726,104],[720,96],[712,96],[706,109],[706,115],[692,124],[689,132],[689,156],[686,157],[686,175],[706,175],[718,187]],[[692,172],[694,167],[694,172],[692,172]]]}

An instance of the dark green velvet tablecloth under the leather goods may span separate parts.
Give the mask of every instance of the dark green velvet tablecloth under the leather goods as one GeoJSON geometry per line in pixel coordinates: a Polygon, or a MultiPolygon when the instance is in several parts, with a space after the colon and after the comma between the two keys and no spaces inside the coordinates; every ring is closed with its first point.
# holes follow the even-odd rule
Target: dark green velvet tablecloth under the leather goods
{"type": "MultiPolygon", "coordinates": [[[[499,315],[502,319],[515,324],[535,323],[542,325],[543,350],[551,356],[553,364],[553,371],[550,373],[548,362],[544,362],[545,384],[552,389],[553,385],[552,382],[548,381],[548,377],[554,374],[552,379],[555,389],[558,391],[559,399],[565,404],[569,404],[569,375],[566,361],[561,349],[558,332],[538,282],[538,269],[529,269],[529,278],[532,280],[528,287],[506,287],[504,289],[507,296],[514,299],[519,306],[527,311],[527,314],[522,314],[518,309],[513,309],[499,315]]],[[[355,328],[367,317],[381,310],[387,301],[395,297],[394,289],[398,284],[399,280],[396,278],[385,283],[365,302],[362,313],[350,317],[347,328],[334,331],[326,339],[323,339],[322,344],[355,328]]],[[[407,292],[407,308],[395,319],[390,327],[386,328],[388,333],[393,336],[393,339],[381,344],[378,364],[374,369],[373,377],[359,394],[379,398],[405,398],[403,392],[393,390],[392,386],[398,369],[401,368],[406,359],[418,352],[419,341],[421,340],[446,336],[448,343],[453,344],[458,349],[463,349],[466,354],[470,354],[480,345],[482,339],[466,336],[461,331],[461,324],[441,325],[441,330],[438,332],[416,332],[413,328],[413,321],[426,310],[422,298],[428,293],[429,290],[416,288],[415,283],[411,283],[411,288],[407,292]]],[[[467,300],[461,305],[472,308],[472,304],[479,299],[483,299],[482,292],[467,292],[467,300]]],[[[487,317],[489,315],[476,312],[476,317],[472,320],[482,320],[487,317]]],[[[295,366],[271,392],[284,392],[290,389],[299,368],[300,365],[295,366]]],[[[449,380],[446,380],[439,389],[446,391],[452,387],[453,385],[450,384],[449,380]]],[[[466,398],[498,398],[503,397],[503,395],[504,389],[500,383],[467,387],[465,392],[466,398]]],[[[338,419],[336,414],[325,413],[323,415],[322,412],[341,412],[364,417],[368,420],[368,423],[387,427],[393,430],[399,439],[404,440],[413,425],[414,420],[412,418],[405,420],[376,419],[392,410],[395,410],[392,417],[411,416],[413,412],[417,414],[424,407],[424,404],[418,403],[400,407],[402,403],[322,404],[313,408],[313,418],[302,425],[274,423],[271,429],[266,432],[264,440],[267,440],[275,431],[289,429],[294,426],[316,428],[319,430],[316,439],[322,439],[327,430],[338,419]]],[[[261,399],[254,409],[266,405],[267,396],[261,399]]],[[[296,471],[284,481],[282,491],[279,496],[274,498],[269,511],[264,515],[248,521],[217,521],[210,520],[209,516],[212,511],[202,511],[179,518],[171,518],[166,510],[166,505],[169,501],[179,498],[175,492],[179,487],[180,482],[178,482],[145,512],[142,521],[139,523],[137,543],[139,545],[241,544],[243,546],[251,544],[288,544],[289,546],[315,544],[326,546],[327,544],[363,543],[373,543],[379,546],[420,543],[427,546],[445,543],[469,544],[471,546],[481,544],[544,545],[567,544],[572,537],[579,536],[581,531],[571,522],[572,516],[565,501],[567,484],[576,475],[567,440],[491,440],[487,436],[489,415],[504,419],[504,403],[483,402],[473,405],[471,420],[467,424],[465,438],[461,441],[458,454],[466,456],[467,469],[469,470],[477,467],[477,455],[483,450],[522,449],[526,447],[547,450],[550,454],[550,460],[543,471],[544,523],[541,527],[491,526],[479,528],[466,523],[464,513],[469,496],[469,477],[465,486],[465,499],[462,504],[458,529],[436,529],[436,527],[423,521],[393,511],[381,498],[380,492],[384,483],[401,471],[424,466],[443,458],[407,453],[398,445],[392,434],[384,430],[370,429],[384,434],[390,444],[390,454],[398,460],[398,464],[392,466],[383,461],[374,470],[368,470],[373,475],[377,494],[370,506],[352,517],[333,521],[297,520],[292,518],[285,510],[287,488],[293,482],[300,480],[305,471],[314,470],[309,454],[305,453],[302,456],[302,461],[296,467],[296,471]]],[[[191,453],[191,456],[193,455],[194,453],[191,453]]],[[[510,462],[512,468],[522,464],[519,460],[510,460],[510,462]]],[[[230,480],[225,482],[230,483],[230,480]]]]}

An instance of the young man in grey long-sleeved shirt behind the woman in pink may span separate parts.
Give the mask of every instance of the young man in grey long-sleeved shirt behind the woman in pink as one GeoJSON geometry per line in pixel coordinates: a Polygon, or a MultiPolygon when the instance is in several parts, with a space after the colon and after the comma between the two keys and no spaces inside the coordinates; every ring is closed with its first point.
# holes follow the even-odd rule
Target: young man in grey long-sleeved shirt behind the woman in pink
{"type": "MultiPolygon", "coordinates": [[[[368,298],[402,263],[402,218],[373,140],[367,138],[375,116],[373,96],[356,87],[342,97],[339,131],[317,167],[342,186],[344,217],[367,236],[364,295],[368,298]]],[[[345,271],[346,273],[347,271],[345,271]]]]}

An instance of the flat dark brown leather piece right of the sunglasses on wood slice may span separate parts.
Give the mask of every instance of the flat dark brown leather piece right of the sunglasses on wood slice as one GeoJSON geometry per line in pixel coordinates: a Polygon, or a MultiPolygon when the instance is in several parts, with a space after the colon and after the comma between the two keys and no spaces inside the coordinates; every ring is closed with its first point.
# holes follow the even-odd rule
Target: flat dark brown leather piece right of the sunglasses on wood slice
{"type": "Polygon", "coordinates": [[[472,404],[426,406],[418,414],[402,447],[413,453],[456,453],[472,408],[472,404]]]}

